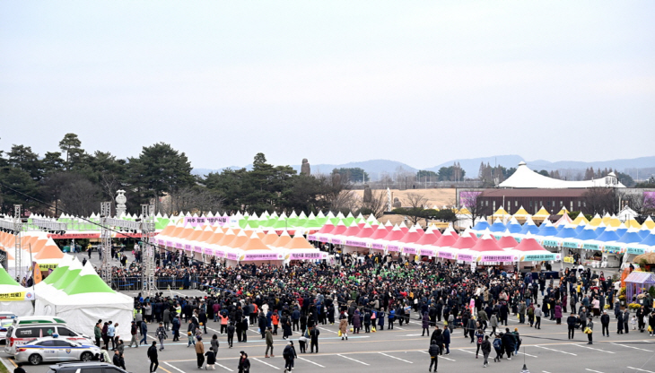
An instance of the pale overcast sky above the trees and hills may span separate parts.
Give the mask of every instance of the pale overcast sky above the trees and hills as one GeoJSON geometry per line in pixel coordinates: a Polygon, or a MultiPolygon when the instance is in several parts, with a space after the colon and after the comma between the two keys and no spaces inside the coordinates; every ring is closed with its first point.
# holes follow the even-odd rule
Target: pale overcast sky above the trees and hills
{"type": "Polygon", "coordinates": [[[655,2],[2,1],[0,149],[196,168],[653,155],[655,2]]]}

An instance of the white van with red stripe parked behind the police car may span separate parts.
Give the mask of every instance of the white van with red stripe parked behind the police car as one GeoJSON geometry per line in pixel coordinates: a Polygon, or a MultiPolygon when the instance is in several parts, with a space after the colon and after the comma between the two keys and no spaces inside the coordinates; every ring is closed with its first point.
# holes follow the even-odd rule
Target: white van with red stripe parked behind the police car
{"type": "Polygon", "coordinates": [[[7,328],[4,352],[15,355],[16,346],[29,343],[37,338],[58,334],[60,339],[71,342],[94,344],[87,335],[80,334],[65,325],[59,317],[17,317],[7,328]]]}

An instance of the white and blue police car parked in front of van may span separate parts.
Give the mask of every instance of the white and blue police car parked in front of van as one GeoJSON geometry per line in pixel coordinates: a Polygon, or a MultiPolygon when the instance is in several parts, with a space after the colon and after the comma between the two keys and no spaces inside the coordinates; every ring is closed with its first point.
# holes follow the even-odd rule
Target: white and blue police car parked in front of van
{"type": "Polygon", "coordinates": [[[38,365],[43,361],[91,361],[97,353],[100,353],[100,348],[93,344],[76,343],[58,337],[54,334],[51,337],[38,338],[16,346],[13,359],[18,364],[29,362],[38,365]]]}

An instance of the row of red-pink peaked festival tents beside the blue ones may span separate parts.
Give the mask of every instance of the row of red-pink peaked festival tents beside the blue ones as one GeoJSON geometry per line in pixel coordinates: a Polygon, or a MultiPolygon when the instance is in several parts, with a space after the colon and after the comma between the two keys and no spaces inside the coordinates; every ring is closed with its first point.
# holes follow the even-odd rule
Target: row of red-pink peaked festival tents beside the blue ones
{"type": "Polygon", "coordinates": [[[560,255],[550,253],[536,239],[527,238],[519,243],[511,238],[496,239],[486,233],[477,237],[472,230],[458,234],[452,227],[440,230],[419,226],[407,227],[404,223],[381,224],[370,217],[363,223],[350,225],[339,221],[327,223],[321,230],[308,236],[310,240],[343,246],[345,253],[384,253],[391,255],[428,256],[441,260],[465,263],[516,263],[559,260],[560,255]]]}

